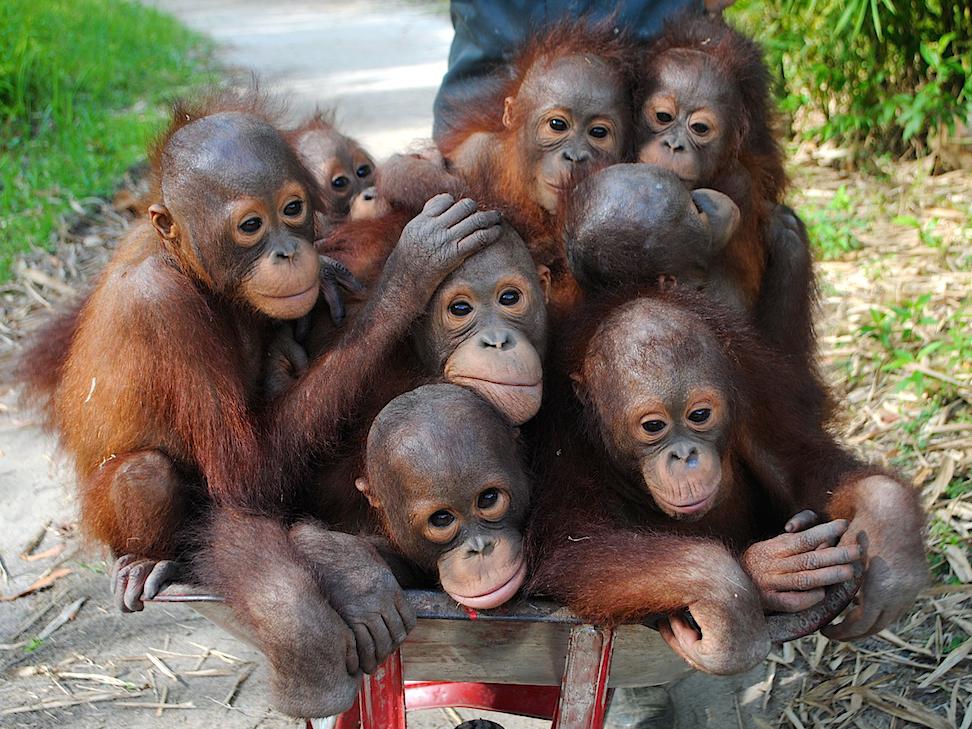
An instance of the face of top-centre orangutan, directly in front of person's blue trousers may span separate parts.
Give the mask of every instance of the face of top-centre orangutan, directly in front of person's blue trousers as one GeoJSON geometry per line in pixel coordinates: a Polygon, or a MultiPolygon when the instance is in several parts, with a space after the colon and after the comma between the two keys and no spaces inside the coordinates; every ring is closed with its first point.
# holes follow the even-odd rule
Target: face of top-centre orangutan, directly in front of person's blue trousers
{"type": "Polygon", "coordinates": [[[503,121],[522,125],[519,145],[540,207],[555,213],[571,175],[594,161],[621,159],[629,139],[626,96],[604,61],[567,56],[537,63],[516,98],[506,100],[503,121]]]}

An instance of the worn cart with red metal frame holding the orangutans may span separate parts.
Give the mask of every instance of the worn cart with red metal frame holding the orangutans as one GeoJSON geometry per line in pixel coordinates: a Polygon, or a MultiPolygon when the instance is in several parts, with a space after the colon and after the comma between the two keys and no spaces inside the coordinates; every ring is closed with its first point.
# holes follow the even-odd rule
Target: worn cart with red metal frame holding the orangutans
{"type": "MultiPolygon", "coordinates": [[[[553,729],[599,729],[612,688],[663,684],[689,670],[644,625],[601,628],[542,601],[518,600],[477,613],[438,592],[410,590],[408,598],[418,624],[399,650],[364,677],[337,729],[406,729],[407,711],[445,707],[551,719],[553,729]]],[[[246,640],[219,598],[157,599],[192,602],[246,640]]]]}

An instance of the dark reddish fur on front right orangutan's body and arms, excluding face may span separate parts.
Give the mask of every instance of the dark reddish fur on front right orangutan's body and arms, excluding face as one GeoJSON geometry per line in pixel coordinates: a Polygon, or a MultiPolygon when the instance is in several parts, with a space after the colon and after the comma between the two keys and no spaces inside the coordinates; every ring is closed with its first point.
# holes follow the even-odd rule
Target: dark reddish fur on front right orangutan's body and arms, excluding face
{"type": "MultiPolygon", "coordinates": [[[[592,620],[617,623],[686,606],[711,589],[726,556],[722,543],[738,555],[781,533],[802,509],[852,516],[846,489],[877,472],[819,425],[813,378],[761,345],[738,317],[696,297],[656,297],[686,308],[730,362],[732,432],[721,486],[728,492],[697,522],[669,519],[650,504],[640,482],[626,482],[605,451],[600,425],[574,395],[567,375],[579,371],[598,324],[627,298],[589,305],[582,321],[555,334],[559,346],[549,361],[549,397],[537,426],[541,487],[531,590],[592,620]]],[[[917,501],[914,509],[920,514],[917,501]]]]}

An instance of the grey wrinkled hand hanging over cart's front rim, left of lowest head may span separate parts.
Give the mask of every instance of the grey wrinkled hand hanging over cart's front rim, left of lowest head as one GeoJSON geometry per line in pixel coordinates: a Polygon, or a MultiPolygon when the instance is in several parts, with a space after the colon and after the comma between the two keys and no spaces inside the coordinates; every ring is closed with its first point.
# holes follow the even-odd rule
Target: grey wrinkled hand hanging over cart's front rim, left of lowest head
{"type": "Polygon", "coordinates": [[[415,627],[415,612],[377,550],[362,537],[301,522],[291,539],[316,568],[331,607],[354,633],[358,663],[374,673],[415,627]]]}

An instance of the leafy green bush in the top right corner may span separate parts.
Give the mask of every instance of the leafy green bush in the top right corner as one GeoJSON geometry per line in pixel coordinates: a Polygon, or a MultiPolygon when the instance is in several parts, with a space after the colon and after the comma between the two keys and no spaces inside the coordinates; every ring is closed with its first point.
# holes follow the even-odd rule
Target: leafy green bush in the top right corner
{"type": "Polygon", "coordinates": [[[810,138],[859,158],[922,154],[972,118],[967,2],[742,0],[730,18],[762,41],[810,138]]]}

